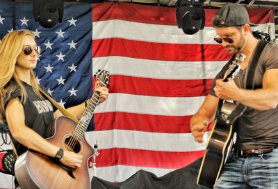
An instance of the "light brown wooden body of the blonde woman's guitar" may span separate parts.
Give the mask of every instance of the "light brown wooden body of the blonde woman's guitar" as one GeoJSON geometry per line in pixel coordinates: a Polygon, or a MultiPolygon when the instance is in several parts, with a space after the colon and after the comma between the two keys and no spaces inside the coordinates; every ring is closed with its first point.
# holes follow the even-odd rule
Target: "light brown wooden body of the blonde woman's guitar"
{"type": "MultiPolygon", "coordinates": [[[[76,122],[66,116],[60,116],[55,121],[55,134],[47,141],[62,149],[66,149],[76,122]]],[[[35,151],[26,151],[15,162],[15,175],[21,188],[86,188],[90,189],[90,176],[88,172],[88,159],[94,150],[83,138],[73,149],[83,155],[81,167],[72,169],[75,179],[65,169],[58,166],[48,156],[35,151]]],[[[60,161],[58,161],[60,162],[60,161]]]]}

